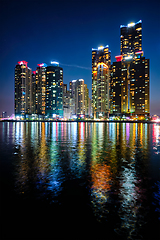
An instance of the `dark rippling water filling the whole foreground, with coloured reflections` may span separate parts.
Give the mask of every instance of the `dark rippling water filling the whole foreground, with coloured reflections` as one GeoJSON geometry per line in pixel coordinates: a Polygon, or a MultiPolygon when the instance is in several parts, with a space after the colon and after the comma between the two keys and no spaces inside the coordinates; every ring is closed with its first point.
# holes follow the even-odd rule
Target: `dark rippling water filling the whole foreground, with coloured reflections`
{"type": "Polygon", "coordinates": [[[159,239],[160,125],[0,123],[1,239],[159,239]]]}

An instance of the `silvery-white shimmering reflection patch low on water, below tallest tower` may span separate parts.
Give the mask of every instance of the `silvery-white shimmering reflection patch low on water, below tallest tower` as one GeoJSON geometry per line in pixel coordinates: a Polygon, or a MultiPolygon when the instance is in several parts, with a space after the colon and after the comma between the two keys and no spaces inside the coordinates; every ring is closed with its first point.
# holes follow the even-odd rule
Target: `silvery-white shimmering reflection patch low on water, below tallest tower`
{"type": "MultiPolygon", "coordinates": [[[[121,222],[119,228],[115,228],[115,231],[118,234],[132,238],[132,236],[137,236],[136,226],[138,217],[140,217],[139,208],[141,206],[138,203],[141,196],[134,166],[129,164],[127,167],[124,167],[119,179],[119,199],[121,204],[118,214],[121,222]]],[[[143,201],[143,199],[141,200],[143,201]]]]}

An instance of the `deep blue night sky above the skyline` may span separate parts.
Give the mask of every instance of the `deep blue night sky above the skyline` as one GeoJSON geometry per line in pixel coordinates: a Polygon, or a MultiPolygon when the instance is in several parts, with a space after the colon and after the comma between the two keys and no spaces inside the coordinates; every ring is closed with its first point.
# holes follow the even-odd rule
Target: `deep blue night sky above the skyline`
{"type": "Polygon", "coordinates": [[[14,68],[25,60],[58,61],[63,82],[83,78],[91,97],[92,48],[120,54],[120,25],[142,20],[142,50],[150,59],[150,110],[160,115],[160,1],[0,0],[0,115],[14,113],[14,68]]]}

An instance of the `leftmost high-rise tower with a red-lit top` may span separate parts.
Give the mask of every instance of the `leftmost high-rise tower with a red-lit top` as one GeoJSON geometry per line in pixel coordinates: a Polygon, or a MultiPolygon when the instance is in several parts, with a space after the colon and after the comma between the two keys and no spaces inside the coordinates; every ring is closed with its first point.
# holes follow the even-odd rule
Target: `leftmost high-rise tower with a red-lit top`
{"type": "Polygon", "coordinates": [[[15,117],[31,114],[32,106],[32,70],[26,61],[20,61],[15,67],[15,117]]]}

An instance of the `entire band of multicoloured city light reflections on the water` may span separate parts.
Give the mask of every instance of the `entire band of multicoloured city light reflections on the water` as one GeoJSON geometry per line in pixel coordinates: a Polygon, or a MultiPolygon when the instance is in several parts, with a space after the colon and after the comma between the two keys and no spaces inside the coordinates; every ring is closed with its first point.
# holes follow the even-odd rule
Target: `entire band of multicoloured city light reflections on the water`
{"type": "Polygon", "coordinates": [[[115,219],[120,236],[141,238],[150,204],[160,218],[159,125],[13,122],[1,123],[0,137],[2,148],[13,146],[12,180],[22,199],[61,204],[64,183],[79,179],[95,219],[115,219]]]}

